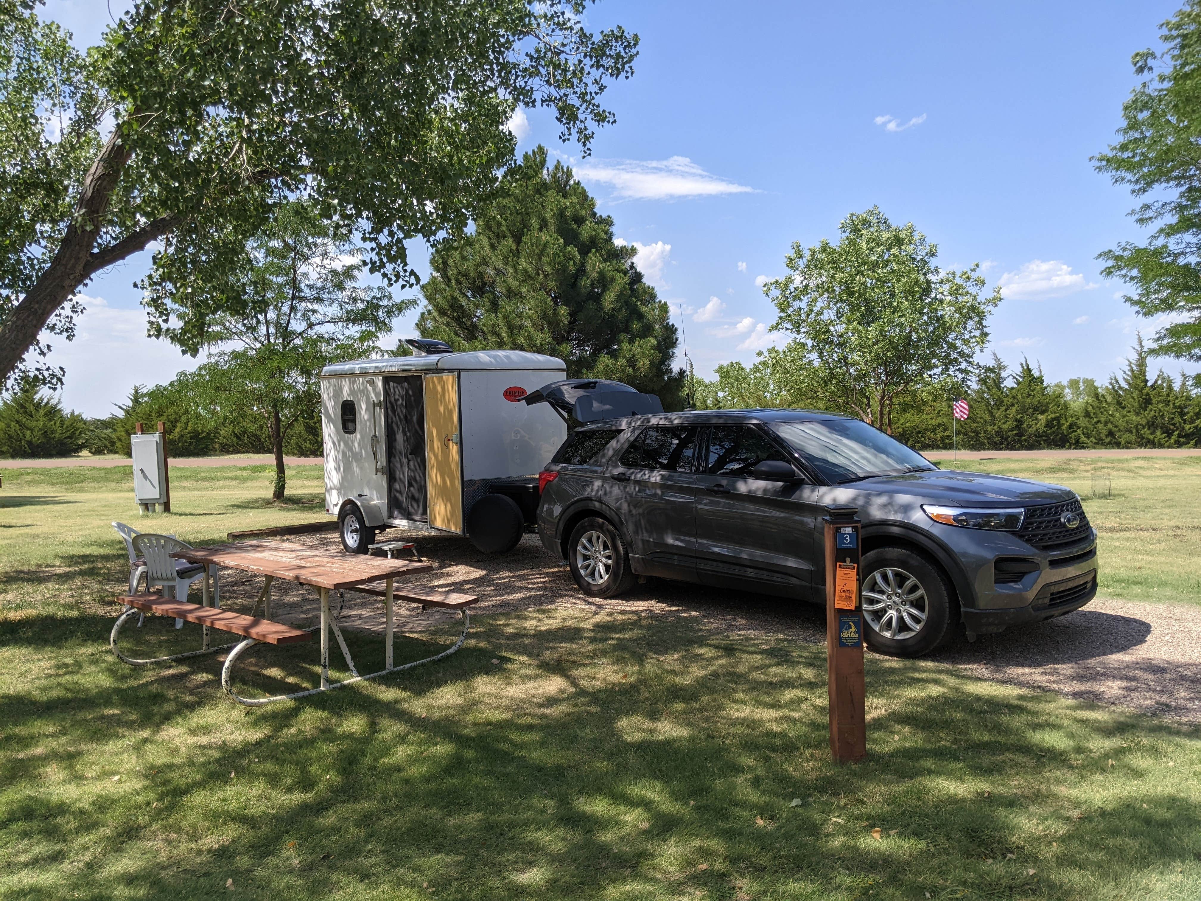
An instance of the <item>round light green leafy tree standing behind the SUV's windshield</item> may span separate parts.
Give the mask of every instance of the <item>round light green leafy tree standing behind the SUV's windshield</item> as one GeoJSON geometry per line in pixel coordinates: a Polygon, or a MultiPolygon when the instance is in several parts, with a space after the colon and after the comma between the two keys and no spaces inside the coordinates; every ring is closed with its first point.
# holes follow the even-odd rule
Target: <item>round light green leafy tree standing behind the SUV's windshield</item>
{"type": "Polygon", "coordinates": [[[793,244],[789,274],[764,286],[779,311],[772,330],[793,335],[777,358],[818,406],[848,408],[891,432],[898,398],[970,376],[1000,291],[981,297],[976,265],[936,267],[937,246],[878,207],[850,214],[838,231],[837,244],[793,244]]]}

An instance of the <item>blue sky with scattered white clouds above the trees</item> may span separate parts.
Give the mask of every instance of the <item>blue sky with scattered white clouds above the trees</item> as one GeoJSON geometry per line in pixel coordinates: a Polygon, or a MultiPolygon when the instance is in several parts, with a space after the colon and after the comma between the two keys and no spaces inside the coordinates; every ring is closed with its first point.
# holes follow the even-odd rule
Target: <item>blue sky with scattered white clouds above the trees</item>
{"type": "MultiPolygon", "coordinates": [[[[544,111],[515,129],[521,149],[540,142],[574,165],[616,234],[640,246],[700,374],[782,340],[755,280],[784,272],[793,241],[835,239],[849,211],[879,204],[934,241],[942,265],[979,262],[990,288],[1004,287],[991,322],[1003,359],[1103,380],[1155,323],[1100,276],[1097,253],[1142,232],[1129,193],[1089,156],[1113,139],[1130,54],[1158,47],[1177,7],[605,0],[590,24],[641,36],[634,77],[605,95],[617,124],[586,160],[558,144],[544,111]]],[[[102,0],[48,0],[44,12],[80,44],[109,20],[102,0]]],[[[147,263],[84,290],[80,339],[55,351],[68,406],[102,414],[132,384],[195,365],[143,336],[131,284],[147,263]]],[[[412,334],[413,318],[398,332],[412,334]]]]}

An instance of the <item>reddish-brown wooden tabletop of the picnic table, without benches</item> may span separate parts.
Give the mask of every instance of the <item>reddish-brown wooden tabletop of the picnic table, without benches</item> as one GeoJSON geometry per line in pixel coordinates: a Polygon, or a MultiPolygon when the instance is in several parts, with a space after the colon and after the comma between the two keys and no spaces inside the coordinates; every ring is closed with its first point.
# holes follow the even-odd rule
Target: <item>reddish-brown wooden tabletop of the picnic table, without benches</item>
{"type": "Polygon", "coordinates": [[[318,589],[348,589],[371,581],[432,569],[426,560],[389,560],[364,554],[329,554],[271,541],[231,542],[211,548],[185,548],[172,554],[190,563],[211,563],[274,575],[318,589]]]}

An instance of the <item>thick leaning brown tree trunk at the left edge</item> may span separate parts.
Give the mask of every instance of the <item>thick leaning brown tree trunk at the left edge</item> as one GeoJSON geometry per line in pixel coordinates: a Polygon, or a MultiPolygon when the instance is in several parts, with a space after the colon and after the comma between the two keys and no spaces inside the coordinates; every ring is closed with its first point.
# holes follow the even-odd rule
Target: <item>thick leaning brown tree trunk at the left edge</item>
{"type": "Polygon", "coordinates": [[[91,249],[129,160],[130,149],[118,126],[84,177],[74,215],[54,258],[0,328],[0,381],[12,375],[50,316],[95,272],[89,270],[91,249]]]}

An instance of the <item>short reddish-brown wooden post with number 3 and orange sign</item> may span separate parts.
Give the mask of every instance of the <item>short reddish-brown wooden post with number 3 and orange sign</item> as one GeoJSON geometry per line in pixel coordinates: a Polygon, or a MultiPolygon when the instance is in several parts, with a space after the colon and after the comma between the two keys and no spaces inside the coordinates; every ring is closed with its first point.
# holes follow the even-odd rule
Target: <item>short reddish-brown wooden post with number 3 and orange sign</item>
{"type": "Polygon", "coordinates": [[[859,508],[826,507],[826,668],[830,751],[838,763],[867,757],[864,616],[859,605],[859,508]]]}

